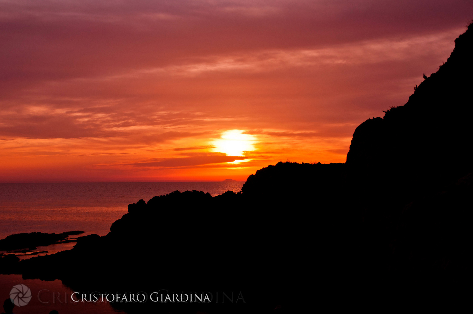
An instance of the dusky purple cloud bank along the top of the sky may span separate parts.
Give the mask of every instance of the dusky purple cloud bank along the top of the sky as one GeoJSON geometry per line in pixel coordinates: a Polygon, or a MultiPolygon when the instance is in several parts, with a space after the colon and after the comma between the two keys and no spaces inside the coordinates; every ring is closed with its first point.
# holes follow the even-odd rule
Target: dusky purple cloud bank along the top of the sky
{"type": "Polygon", "coordinates": [[[181,58],[423,34],[464,26],[472,9],[462,0],[332,2],[1,1],[0,80],[16,89],[162,68],[181,58]],[[241,14],[270,11],[279,13],[241,14]]]}

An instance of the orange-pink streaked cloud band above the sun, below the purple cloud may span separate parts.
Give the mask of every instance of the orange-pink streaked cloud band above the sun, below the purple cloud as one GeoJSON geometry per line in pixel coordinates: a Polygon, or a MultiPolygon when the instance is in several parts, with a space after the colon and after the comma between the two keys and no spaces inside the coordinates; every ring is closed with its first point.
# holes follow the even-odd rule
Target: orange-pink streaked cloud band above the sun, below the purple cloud
{"type": "MultiPolygon", "coordinates": [[[[265,120],[288,121],[294,114],[299,115],[298,119],[310,118],[316,121],[311,115],[316,107],[290,110],[292,107],[284,103],[276,105],[278,110],[261,117],[260,112],[266,109],[262,96],[266,98],[264,102],[274,104],[287,102],[286,99],[292,97],[299,106],[307,101],[319,104],[334,100],[353,103],[360,98],[357,94],[364,90],[368,92],[370,84],[380,83],[378,77],[370,77],[373,73],[386,71],[386,66],[390,64],[396,64],[397,68],[393,67],[396,71],[400,64],[406,62],[425,62],[422,60],[429,60],[432,55],[445,56],[452,49],[451,39],[459,31],[455,29],[424,36],[387,38],[313,50],[212,56],[207,59],[213,61],[204,63],[173,65],[160,70],[133,70],[129,74],[106,79],[81,78],[48,83],[41,88],[40,94],[25,91],[21,97],[15,96],[15,99],[2,102],[0,135],[80,138],[128,136],[140,132],[141,139],[145,142],[158,142],[159,138],[171,139],[174,135],[178,138],[179,135],[203,134],[202,131],[189,130],[175,133],[170,128],[222,125],[226,121],[236,124],[251,120],[259,120],[260,123],[265,120]],[[350,77],[362,71],[366,72],[363,80],[350,77]],[[192,75],[189,78],[173,78],[183,76],[183,73],[192,75]],[[317,73],[325,74],[320,76],[317,73]],[[204,74],[205,78],[198,77],[204,74]],[[144,87],[146,92],[140,91],[144,87]],[[255,87],[258,90],[254,90],[255,87]],[[310,90],[312,95],[307,95],[310,90]],[[84,94],[87,97],[81,97],[84,94]],[[121,97],[117,97],[119,94],[121,97]],[[324,94],[332,99],[324,99],[324,94]],[[336,99],[342,96],[346,100],[336,99]],[[259,104],[245,111],[238,111],[237,108],[242,104],[221,105],[221,101],[228,102],[229,97],[242,97],[246,102],[256,101],[259,104]],[[306,99],[299,99],[301,97],[306,99]],[[243,112],[246,114],[242,114],[243,112]],[[304,114],[300,114],[302,112],[304,114]]],[[[419,70],[419,73],[423,72],[429,71],[419,70]]],[[[396,79],[396,76],[392,76],[392,79],[396,79]]],[[[414,80],[410,81],[412,86],[415,85],[414,80]]],[[[375,88],[369,92],[373,95],[377,91],[375,88]]],[[[365,98],[362,99],[366,101],[365,98]]],[[[379,108],[379,112],[389,105],[379,108]]],[[[324,112],[320,109],[318,108],[317,114],[324,117],[324,112]]],[[[337,122],[327,120],[327,117],[322,120],[337,122]]],[[[321,130],[317,132],[319,135],[323,134],[321,130]]],[[[306,133],[279,133],[272,135],[289,136],[289,133],[293,133],[293,136],[298,134],[299,137],[315,136],[313,130],[306,133]]]]}

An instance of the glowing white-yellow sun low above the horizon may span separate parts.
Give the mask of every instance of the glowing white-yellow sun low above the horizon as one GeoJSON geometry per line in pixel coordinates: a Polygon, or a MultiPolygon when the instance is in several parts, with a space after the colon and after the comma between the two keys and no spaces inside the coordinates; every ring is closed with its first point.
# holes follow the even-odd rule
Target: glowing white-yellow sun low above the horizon
{"type": "Polygon", "coordinates": [[[221,134],[220,139],[214,140],[212,151],[224,153],[228,156],[244,156],[244,151],[254,150],[256,137],[244,134],[245,130],[228,130],[221,134]]]}

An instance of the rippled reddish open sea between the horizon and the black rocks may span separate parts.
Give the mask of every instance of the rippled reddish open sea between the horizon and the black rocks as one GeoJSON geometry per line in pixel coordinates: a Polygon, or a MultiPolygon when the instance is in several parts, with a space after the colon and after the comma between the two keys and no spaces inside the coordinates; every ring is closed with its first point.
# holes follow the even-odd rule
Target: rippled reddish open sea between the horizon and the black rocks
{"type": "MultiPolygon", "coordinates": [[[[212,196],[239,192],[244,182],[1,183],[0,239],[23,232],[82,230],[105,236],[111,224],[140,199],[173,191],[212,196]]],[[[48,250],[52,252],[51,250],[48,250]]],[[[56,250],[54,250],[56,251],[56,250]]]]}

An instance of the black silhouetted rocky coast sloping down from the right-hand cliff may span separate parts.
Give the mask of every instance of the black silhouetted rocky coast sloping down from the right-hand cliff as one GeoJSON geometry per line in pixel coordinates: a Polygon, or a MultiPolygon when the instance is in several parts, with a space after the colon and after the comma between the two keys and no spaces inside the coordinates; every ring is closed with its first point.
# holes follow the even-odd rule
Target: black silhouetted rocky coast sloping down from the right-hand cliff
{"type": "MultiPolygon", "coordinates": [[[[160,313],[307,313],[315,304],[382,300],[427,306],[466,295],[472,70],[470,24],[405,105],[356,128],[346,163],[280,162],[250,175],[242,192],[139,200],[106,236],[79,237],[70,251],[29,260],[7,255],[0,269],[61,279],[76,291],[245,295],[245,304],[218,307],[159,304],[160,313]]],[[[150,303],[113,306],[157,311],[150,303]]]]}

